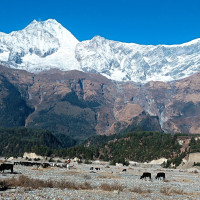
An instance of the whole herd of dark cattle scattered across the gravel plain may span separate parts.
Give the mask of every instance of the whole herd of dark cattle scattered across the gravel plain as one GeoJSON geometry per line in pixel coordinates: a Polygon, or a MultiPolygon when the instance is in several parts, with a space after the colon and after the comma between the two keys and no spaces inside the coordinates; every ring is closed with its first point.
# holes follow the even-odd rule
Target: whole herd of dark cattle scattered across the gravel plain
{"type": "MultiPolygon", "coordinates": [[[[47,167],[66,167],[65,164],[62,164],[62,165],[58,165],[58,164],[55,164],[55,163],[38,163],[38,162],[14,162],[14,164],[9,164],[9,163],[3,163],[0,165],[0,171],[4,173],[4,170],[10,170],[11,173],[13,173],[13,167],[14,165],[23,165],[23,166],[36,166],[37,168],[39,168],[40,166],[43,167],[43,168],[47,168],[47,167]]],[[[99,167],[90,167],[90,170],[100,170],[99,167]]],[[[126,172],[126,169],[123,169],[122,172],[126,172]]],[[[142,176],[140,177],[140,179],[145,179],[148,178],[149,180],[151,180],[151,173],[150,172],[144,172],[142,174],[142,176]]],[[[160,180],[165,180],[165,173],[164,172],[159,172],[157,173],[156,179],[160,180]]]]}

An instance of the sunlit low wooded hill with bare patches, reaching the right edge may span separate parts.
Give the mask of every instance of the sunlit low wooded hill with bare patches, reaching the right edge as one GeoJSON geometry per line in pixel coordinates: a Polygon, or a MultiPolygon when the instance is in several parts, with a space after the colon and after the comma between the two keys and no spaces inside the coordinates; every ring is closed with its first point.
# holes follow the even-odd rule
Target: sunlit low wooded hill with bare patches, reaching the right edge
{"type": "Polygon", "coordinates": [[[83,145],[61,149],[60,155],[85,160],[100,159],[110,164],[128,164],[128,161],[150,162],[166,158],[163,167],[181,164],[190,153],[200,152],[199,136],[159,132],[123,132],[111,136],[93,136],[83,145]]]}

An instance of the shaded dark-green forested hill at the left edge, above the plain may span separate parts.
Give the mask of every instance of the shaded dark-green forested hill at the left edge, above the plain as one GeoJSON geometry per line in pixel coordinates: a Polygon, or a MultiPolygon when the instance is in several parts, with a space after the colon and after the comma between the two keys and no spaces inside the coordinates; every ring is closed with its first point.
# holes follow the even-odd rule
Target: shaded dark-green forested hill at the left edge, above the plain
{"type": "Polygon", "coordinates": [[[27,128],[0,128],[0,141],[0,156],[22,156],[24,152],[50,156],[52,149],[75,145],[69,137],[58,138],[49,131],[27,128]]]}

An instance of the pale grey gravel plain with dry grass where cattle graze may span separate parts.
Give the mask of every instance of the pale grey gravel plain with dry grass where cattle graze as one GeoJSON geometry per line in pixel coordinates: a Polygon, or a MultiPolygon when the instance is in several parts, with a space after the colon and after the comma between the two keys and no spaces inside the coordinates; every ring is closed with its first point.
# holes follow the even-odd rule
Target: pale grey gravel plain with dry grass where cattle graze
{"type": "Polygon", "coordinates": [[[76,164],[70,170],[50,167],[35,168],[14,166],[15,174],[0,173],[0,180],[25,175],[29,178],[53,181],[89,183],[92,189],[59,188],[12,188],[0,191],[0,199],[200,199],[200,171],[195,169],[163,169],[158,165],[136,165],[129,167],[110,166],[106,163],[76,164]],[[90,167],[100,167],[91,171],[90,167]],[[122,169],[127,169],[122,172],[122,169]],[[152,180],[140,180],[143,172],[151,172],[152,180]],[[166,180],[155,180],[157,172],[165,172],[166,180]],[[107,191],[108,190],[108,191],[107,191]]]}

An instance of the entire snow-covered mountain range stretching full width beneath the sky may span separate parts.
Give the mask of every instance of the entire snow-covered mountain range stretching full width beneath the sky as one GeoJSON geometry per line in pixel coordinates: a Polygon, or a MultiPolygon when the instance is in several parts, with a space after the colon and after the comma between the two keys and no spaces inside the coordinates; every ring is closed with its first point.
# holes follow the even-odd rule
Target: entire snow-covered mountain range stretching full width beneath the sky
{"type": "Polygon", "coordinates": [[[200,71],[200,39],[139,45],[96,36],[79,42],[56,20],[34,20],[21,31],[0,33],[0,62],[30,72],[76,69],[117,81],[172,81],[200,71]]]}

